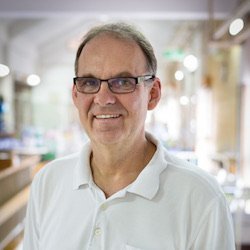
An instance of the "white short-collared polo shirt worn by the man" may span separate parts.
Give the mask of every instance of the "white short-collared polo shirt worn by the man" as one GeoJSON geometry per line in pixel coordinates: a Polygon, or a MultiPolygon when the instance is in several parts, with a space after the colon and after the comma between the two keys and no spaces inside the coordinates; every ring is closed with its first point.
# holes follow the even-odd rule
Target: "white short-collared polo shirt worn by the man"
{"type": "Polygon", "coordinates": [[[149,138],[157,145],[149,164],[108,199],[93,182],[89,143],[43,168],[32,183],[24,250],[235,249],[214,178],[149,138]]]}

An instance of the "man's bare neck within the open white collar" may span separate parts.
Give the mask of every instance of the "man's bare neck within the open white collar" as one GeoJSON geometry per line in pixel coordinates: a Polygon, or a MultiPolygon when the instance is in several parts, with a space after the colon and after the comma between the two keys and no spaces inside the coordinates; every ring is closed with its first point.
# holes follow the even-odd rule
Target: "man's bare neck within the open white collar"
{"type": "Polygon", "coordinates": [[[146,138],[140,144],[92,146],[93,179],[106,197],[132,183],[155,152],[155,145],[146,138]],[[136,148],[132,145],[136,145],[136,148]]]}

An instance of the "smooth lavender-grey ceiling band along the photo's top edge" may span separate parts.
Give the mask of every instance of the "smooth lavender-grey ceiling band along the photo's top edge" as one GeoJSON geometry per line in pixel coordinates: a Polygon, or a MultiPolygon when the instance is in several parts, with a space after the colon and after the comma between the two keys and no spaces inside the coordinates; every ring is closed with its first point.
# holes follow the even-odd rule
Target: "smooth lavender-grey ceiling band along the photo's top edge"
{"type": "Polygon", "coordinates": [[[92,15],[122,14],[154,15],[169,18],[204,17],[208,5],[213,5],[216,14],[228,15],[237,5],[237,0],[1,0],[0,16],[54,16],[61,14],[92,15]],[[177,15],[179,14],[179,16],[177,15]]]}

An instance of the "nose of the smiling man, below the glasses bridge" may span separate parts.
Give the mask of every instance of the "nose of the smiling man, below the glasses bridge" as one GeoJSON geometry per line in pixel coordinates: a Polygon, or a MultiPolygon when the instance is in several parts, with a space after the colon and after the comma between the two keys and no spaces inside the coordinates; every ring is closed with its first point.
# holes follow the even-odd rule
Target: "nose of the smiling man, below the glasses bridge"
{"type": "Polygon", "coordinates": [[[102,81],[100,90],[95,94],[94,103],[99,104],[100,106],[106,106],[114,104],[115,101],[116,97],[109,89],[108,83],[106,81],[102,81]]]}

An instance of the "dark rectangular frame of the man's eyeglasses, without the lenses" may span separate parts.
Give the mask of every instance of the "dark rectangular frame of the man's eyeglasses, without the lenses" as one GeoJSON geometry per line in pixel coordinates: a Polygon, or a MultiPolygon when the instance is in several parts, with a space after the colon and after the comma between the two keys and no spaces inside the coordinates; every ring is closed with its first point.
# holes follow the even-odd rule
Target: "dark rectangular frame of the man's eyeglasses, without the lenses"
{"type": "Polygon", "coordinates": [[[137,77],[132,77],[132,76],[128,76],[128,77],[112,77],[112,78],[108,78],[108,79],[100,79],[100,78],[96,78],[96,77],[81,77],[81,76],[76,76],[73,78],[73,82],[74,82],[74,85],[76,86],[76,90],[80,93],[83,93],[83,94],[96,94],[99,92],[100,88],[101,88],[101,84],[102,82],[107,82],[108,83],[108,87],[109,87],[109,90],[114,93],[114,94],[127,94],[127,93],[132,93],[135,91],[136,89],[136,85],[138,84],[141,84],[145,81],[149,81],[149,80],[154,80],[155,79],[155,75],[143,75],[143,76],[137,76],[137,77]],[[84,92],[84,91],[81,91],[78,89],[77,87],[77,80],[80,80],[80,79],[86,79],[86,78],[92,78],[92,79],[95,79],[98,81],[99,83],[99,87],[96,91],[94,92],[84,92]],[[123,79],[123,78],[129,78],[129,79],[134,79],[135,80],[135,85],[134,85],[134,88],[131,89],[130,91],[126,91],[126,92],[116,92],[112,89],[112,83],[110,82],[110,80],[114,80],[114,79],[123,79]]]}

